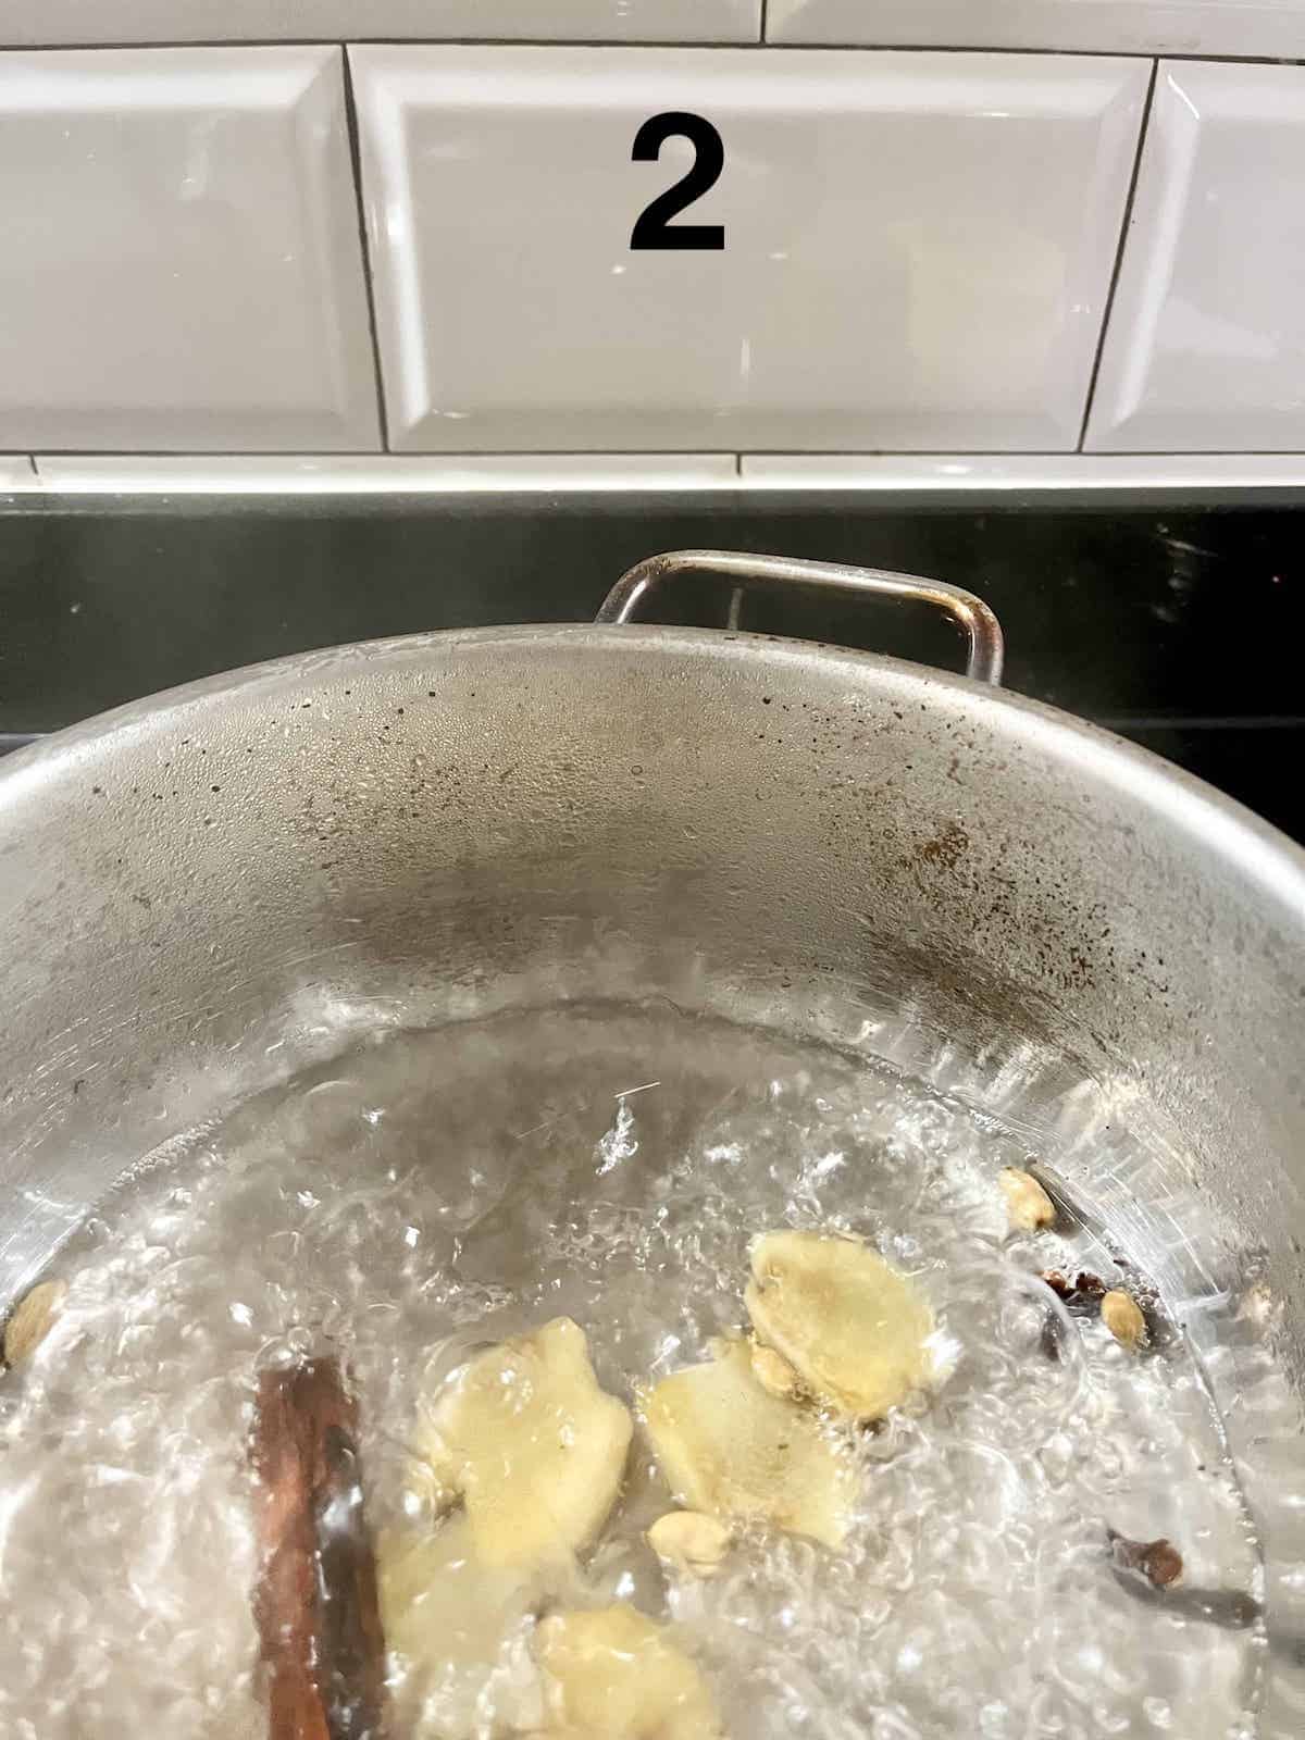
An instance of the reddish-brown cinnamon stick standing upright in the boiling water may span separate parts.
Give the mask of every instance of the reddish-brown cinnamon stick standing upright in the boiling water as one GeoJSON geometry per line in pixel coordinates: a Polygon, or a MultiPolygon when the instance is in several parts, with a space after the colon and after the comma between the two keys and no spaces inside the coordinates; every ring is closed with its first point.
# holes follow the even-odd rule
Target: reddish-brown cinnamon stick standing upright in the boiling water
{"type": "Polygon", "coordinates": [[[357,1439],[336,1359],[259,1373],[254,1615],[268,1740],[385,1740],[385,1637],[357,1439]]]}

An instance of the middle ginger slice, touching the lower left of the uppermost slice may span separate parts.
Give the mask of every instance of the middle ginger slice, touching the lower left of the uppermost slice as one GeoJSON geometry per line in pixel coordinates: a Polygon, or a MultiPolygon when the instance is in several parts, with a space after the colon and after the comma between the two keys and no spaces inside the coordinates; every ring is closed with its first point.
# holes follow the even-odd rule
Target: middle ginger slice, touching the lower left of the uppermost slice
{"type": "Polygon", "coordinates": [[[647,1432],[680,1503],[722,1522],[769,1522],[840,1547],[854,1470],[813,1415],[769,1395],[746,1342],[647,1392],[647,1432]]]}

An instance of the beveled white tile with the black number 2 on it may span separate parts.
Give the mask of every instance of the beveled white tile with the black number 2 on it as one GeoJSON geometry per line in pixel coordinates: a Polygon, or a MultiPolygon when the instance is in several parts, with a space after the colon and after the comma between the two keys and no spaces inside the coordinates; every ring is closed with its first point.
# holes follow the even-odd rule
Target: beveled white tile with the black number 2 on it
{"type": "Polygon", "coordinates": [[[722,49],[350,50],[400,451],[1068,449],[1148,64],[722,49]],[[722,251],[633,251],[679,219],[722,251]]]}

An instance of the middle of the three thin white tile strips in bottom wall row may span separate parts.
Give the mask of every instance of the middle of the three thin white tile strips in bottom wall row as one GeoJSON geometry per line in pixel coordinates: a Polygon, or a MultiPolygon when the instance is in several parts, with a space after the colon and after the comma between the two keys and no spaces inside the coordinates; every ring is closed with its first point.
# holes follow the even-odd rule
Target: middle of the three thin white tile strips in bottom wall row
{"type": "Polygon", "coordinates": [[[407,496],[733,489],[733,454],[38,454],[40,487],[64,496],[407,496]]]}

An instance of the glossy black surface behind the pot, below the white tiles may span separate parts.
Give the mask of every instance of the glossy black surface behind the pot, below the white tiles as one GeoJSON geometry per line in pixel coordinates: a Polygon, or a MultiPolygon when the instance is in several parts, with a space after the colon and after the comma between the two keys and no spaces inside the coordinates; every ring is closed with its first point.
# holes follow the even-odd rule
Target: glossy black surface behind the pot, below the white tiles
{"type": "MultiPolygon", "coordinates": [[[[0,743],[306,647],[579,621],[644,555],[757,550],[981,593],[1011,689],[1082,713],[1305,839],[1305,508],[886,508],[867,496],[442,496],[45,503],[0,512],[0,743]]],[[[706,581],[656,616],[719,623],[706,581]]],[[[891,604],[753,597],[743,625],[957,665],[891,604]]]]}

